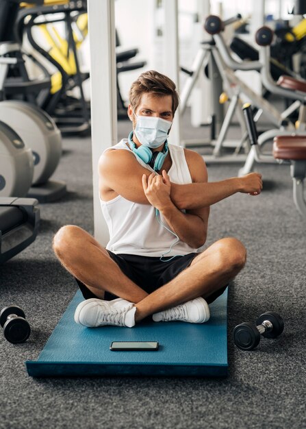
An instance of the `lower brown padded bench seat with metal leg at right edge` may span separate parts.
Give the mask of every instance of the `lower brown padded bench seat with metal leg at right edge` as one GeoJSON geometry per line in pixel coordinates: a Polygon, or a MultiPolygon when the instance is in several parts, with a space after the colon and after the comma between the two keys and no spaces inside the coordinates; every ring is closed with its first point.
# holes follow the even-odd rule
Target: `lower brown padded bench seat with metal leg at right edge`
{"type": "Polygon", "coordinates": [[[306,176],[306,136],[277,136],[273,141],[273,156],[289,160],[293,180],[293,199],[298,212],[306,219],[304,179],[306,176]]]}

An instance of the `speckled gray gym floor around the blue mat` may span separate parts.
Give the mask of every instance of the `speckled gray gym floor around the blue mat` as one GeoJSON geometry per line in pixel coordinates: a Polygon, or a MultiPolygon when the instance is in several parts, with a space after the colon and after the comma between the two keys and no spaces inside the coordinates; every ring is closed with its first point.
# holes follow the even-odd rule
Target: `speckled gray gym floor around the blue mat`
{"type": "MultiPolygon", "coordinates": [[[[207,135],[188,119],[185,138],[207,135]]],[[[127,136],[128,122],[118,125],[127,136]]],[[[40,205],[40,233],[30,247],[1,266],[1,308],[21,306],[31,324],[27,343],[0,335],[0,428],[305,428],[306,221],[292,201],[288,166],[262,166],[259,197],[236,194],[212,207],[207,245],[239,238],[248,262],[229,289],[229,376],[219,378],[33,379],[25,360],[38,357],[71,301],[77,285],[51,248],[55,232],[76,224],[93,232],[90,138],[64,139],[54,178],[68,195],[40,205]],[[277,340],[262,339],[242,352],[231,340],[234,326],[266,310],[285,321],[277,340]]],[[[210,165],[209,180],[237,175],[238,165],[210,165]]]]}

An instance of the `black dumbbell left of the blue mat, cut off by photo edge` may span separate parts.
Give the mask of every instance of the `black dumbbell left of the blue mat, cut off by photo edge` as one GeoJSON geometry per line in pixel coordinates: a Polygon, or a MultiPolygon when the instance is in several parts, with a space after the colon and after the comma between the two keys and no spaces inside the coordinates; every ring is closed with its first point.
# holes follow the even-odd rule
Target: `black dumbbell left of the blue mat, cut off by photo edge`
{"type": "Polygon", "coordinates": [[[3,308],[0,312],[0,323],[5,339],[10,343],[24,343],[29,338],[31,328],[25,320],[25,313],[18,306],[3,308]]]}

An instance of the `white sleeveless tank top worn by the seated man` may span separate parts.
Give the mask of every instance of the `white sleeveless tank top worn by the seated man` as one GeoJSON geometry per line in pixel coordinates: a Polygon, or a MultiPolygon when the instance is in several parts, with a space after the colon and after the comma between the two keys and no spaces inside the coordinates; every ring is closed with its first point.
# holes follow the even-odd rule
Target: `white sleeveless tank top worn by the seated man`
{"type": "MultiPolygon", "coordinates": [[[[105,149],[129,149],[127,138],[123,138],[117,145],[105,149]]],[[[172,165],[168,171],[170,180],[176,184],[187,184],[192,182],[188,164],[182,147],[168,145],[172,165]]],[[[133,154],[133,152],[131,152],[133,154]]],[[[136,156],[136,154],[134,154],[136,156]]],[[[136,159],[143,167],[153,171],[151,167],[136,159]]],[[[115,254],[133,254],[139,256],[162,256],[165,258],[175,255],[186,255],[190,252],[198,252],[198,249],[188,246],[183,241],[178,241],[171,252],[168,252],[171,245],[177,238],[171,234],[157,221],[155,208],[150,204],[137,204],[118,195],[110,201],[101,201],[101,208],[108,230],[110,241],[106,249],[115,254]]],[[[184,210],[182,210],[184,212],[184,210]]],[[[164,217],[159,215],[160,221],[170,229],[164,217]]]]}

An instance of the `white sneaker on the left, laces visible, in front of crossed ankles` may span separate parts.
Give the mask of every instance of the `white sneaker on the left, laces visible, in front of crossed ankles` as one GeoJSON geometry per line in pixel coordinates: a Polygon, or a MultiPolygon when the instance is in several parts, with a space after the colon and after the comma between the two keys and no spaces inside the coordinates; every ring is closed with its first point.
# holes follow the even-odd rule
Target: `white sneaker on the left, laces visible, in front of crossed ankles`
{"type": "Polygon", "coordinates": [[[75,310],[75,322],[88,328],[97,326],[113,325],[127,326],[135,325],[136,307],[133,302],[117,298],[112,301],[90,298],[81,302],[75,310]]]}

